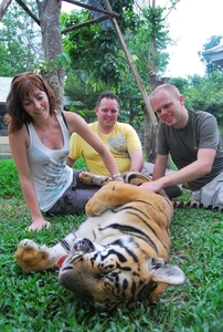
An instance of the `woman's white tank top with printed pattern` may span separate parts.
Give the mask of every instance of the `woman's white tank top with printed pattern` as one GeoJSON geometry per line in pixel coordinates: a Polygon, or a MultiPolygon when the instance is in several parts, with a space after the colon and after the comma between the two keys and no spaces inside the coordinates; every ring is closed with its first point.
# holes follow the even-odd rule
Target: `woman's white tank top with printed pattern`
{"type": "Polygon", "coordinates": [[[68,188],[73,170],[66,165],[70,152],[70,133],[62,115],[56,115],[64,137],[62,149],[45,147],[38,137],[32,124],[28,125],[30,146],[28,156],[33,183],[42,211],[47,211],[68,188]]]}

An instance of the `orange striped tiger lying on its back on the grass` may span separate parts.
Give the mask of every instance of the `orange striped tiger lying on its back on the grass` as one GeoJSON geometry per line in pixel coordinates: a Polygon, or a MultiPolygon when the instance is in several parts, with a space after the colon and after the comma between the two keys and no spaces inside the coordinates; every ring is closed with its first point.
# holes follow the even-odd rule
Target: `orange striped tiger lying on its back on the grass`
{"type": "MultiPolygon", "coordinates": [[[[92,181],[86,174],[85,181],[92,181]]],[[[129,184],[106,184],[87,203],[87,220],[53,248],[22,240],[15,252],[22,270],[60,266],[60,283],[100,311],[148,305],[166,284],[182,284],[183,272],[167,263],[172,204],[164,193],[138,187],[148,180],[127,173],[129,184]]]]}

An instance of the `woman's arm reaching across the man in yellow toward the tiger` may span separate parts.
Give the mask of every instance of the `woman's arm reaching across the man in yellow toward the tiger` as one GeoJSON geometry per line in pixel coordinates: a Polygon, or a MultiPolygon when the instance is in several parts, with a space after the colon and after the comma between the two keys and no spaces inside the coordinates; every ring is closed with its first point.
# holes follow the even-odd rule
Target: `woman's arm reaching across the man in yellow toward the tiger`
{"type": "MultiPolygon", "coordinates": [[[[77,114],[64,112],[70,133],[76,132],[83,139],[85,139],[102,157],[110,176],[119,174],[118,167],[114,156],[109,149],[102,143],[95,133],[89,128],[86,122],[77,114]]],[[[115,180],[123,180],[121,177],[115,177],[115,180]]]]}

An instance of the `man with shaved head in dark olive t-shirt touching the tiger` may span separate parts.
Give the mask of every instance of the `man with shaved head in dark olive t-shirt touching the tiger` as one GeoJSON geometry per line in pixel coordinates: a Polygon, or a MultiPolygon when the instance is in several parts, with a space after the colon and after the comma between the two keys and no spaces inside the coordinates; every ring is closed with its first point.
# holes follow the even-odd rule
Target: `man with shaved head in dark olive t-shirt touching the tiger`
{"type": "Polygon", "coordinates": [[[150,100],[160,118],[157,159],[152,181],[141,186],[158,193],[187,183],[194,199],[201,201],[201,189],[221,174],[223,177],[216,118],[208,112],[188,110],[183,96],[172,84],[156,87],[150,100]],[[166,175],[169,153],[179,170],[166,175]]]}

